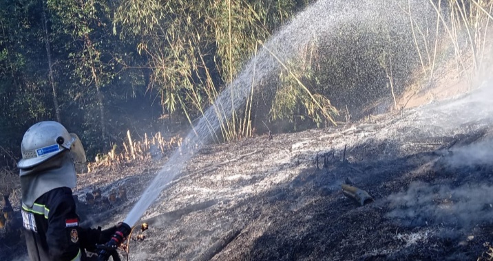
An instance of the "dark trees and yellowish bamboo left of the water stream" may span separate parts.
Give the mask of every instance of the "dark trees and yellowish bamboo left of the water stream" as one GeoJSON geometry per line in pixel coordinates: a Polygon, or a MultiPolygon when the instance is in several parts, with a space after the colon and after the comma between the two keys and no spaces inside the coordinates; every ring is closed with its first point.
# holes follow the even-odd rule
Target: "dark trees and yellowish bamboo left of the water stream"
{"type": "Polygon", "coordinates": [[[127,128],[179,117],[185,108],[196,113],[190,89],[220,91],[255,41],[306,4],[2,0],[2,155],[18,158],[23,132],[40,120],[79,133],[94,155],[120,143],[127,128]],[[204,82],[206,73],[213,82],[204,82]]]}

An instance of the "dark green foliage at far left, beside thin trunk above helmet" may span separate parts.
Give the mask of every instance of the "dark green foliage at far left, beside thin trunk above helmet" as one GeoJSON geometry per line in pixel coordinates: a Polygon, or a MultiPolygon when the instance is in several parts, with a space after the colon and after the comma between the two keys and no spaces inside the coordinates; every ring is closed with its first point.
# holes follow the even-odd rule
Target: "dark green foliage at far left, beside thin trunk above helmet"
{"type": "MultiPolygon", "coordinates": [[[[28,126],[51,114],[38,3],[0,0],[0,146],[13,155],[20,154],[28,126]]],[[[10,156],[6,160],[12,162],[10,156]]]]}

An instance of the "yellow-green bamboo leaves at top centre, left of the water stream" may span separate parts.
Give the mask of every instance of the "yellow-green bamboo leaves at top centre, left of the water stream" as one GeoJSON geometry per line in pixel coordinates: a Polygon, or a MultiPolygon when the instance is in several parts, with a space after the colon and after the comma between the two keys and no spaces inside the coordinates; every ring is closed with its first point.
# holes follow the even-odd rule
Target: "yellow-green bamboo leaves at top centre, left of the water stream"
{"type": "MultiPolygon", "coordinates": [[[[123,1],[115,21],[120,37],[140,39],[163,113],[183,111],[191,122],[240,71],[258,39],[268,38],[295,7],[294,1],[123,1]]],[[[235,126],[238,113],[222,126],[225,139],[242,128],[235,126]]]]}

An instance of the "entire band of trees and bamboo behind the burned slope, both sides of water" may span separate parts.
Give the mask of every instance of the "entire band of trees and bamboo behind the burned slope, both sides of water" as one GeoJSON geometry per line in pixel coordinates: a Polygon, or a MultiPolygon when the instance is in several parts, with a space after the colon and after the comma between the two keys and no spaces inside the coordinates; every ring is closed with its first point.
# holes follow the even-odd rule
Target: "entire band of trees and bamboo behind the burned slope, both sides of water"
{"type": "MultiPolygon", "coordinates": [[[[143,135],[193,122],[259,43],[312,2],[0,0],[0,166],[14,166],[23,132],[41,120],[78,133],[90,157],[120,144],[127,130],[143,135]]],[[[233,113],[241,124],[224,139],[264,128],[264,120],[251,125],[259,111],[290,122],[289,130],[303,120],[334,124],[338,109],[395,98],[416,73],[433,78],[448,53],[464,71],[463,47],[472,46],[480,71],[492,1],[393,2],[407,15],[341,25],[330,42],[314,41],[306,55],[284,61],[273,76],[277,93],[266,102],[269,95],[252,95],[264,100],[255,113],[233,113]],[[430,5],[413,13],[411,2],[430,5]],[[462,32],[470,40],[458,40],[462,32]]],[[[388,12],[388,1],[375,5],[388,12]]]]}

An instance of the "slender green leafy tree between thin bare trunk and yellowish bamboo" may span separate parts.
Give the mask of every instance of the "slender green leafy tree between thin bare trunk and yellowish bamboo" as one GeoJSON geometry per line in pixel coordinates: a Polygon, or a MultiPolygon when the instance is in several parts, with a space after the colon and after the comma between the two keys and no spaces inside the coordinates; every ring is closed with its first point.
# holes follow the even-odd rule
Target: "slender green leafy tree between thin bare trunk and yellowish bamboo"
{"type": "Polygon", "coordinates": [[[72,90],[69,95],[89,114],[84,120],[85,128],[97,126],[98,143],[108,145],[104,89],[116,75],[110,50],[116,39],[111,33],[109,1],[52,0],[48,8],[59,39],[57,49],[67,55],[61,63],[68,69],[65,75],[72,85],[65,88],[72,90]]]}

